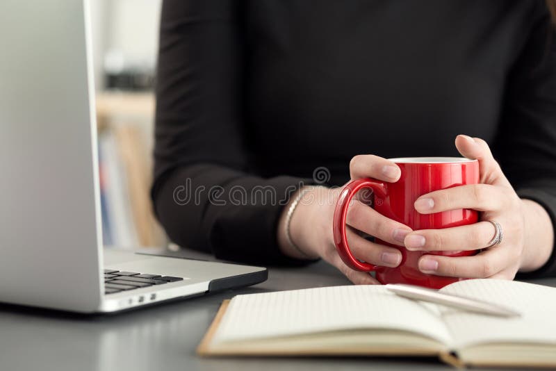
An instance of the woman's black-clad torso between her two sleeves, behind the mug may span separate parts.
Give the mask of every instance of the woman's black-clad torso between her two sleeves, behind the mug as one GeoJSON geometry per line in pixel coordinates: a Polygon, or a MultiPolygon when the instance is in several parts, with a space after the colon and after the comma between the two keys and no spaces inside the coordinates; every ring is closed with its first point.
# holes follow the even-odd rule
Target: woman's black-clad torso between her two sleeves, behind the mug
{"type": "Polygon", "coordinates": [[[347,180],[356,154],[455,156],[493,140],[534,1],[245,3],[245,122],[256,171],[347,180]]]}

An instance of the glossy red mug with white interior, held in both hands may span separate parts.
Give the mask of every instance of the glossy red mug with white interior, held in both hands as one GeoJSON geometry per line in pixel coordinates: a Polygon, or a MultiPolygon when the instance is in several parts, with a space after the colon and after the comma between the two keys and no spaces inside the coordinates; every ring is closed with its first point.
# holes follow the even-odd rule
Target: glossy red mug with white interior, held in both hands
{"type": "Polygon", "coordinates": [[[429,288],[442,288],[461,278],[440,277],[425,274],[418,269],[418,260],[424,254],[444,256],[469,256],[476,250],[461,252],[411,252],[404,247],[391,245],[382,240],[375,242],[395,247],[402,253],[402,262],[398,267],[380,267],[359,261],[347,245],[345,234],[345,217],[347,208],[359,190],[373,190],[373,204],[376,211],[415,230],[443,229],[477,222],[477,211],[459,209],[434,214],[420,214],[414,203],[418,197],[434,190],[479,183],[479,162],[459,157],[414,157],[391,158],[402,174],[395,183],[386,183],[375,179],[357,179],[347,183],[336,203],[334,211],[334,243],[344,263],[354,270],[375,272],[380,283],[409,283],[429,288]]]}

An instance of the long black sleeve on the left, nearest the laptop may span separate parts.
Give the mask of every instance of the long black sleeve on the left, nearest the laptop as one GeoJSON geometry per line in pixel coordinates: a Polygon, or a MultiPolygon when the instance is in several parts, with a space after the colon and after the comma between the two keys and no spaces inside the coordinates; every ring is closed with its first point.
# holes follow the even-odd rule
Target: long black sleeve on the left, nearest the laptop
{"type": "Polygon", "coordinates": [[[163,3],[156,215],[179,245],[232,261],[293,263],[279,252],[276,225],[302,179],[250,174],[238,10],[236,1],[163,3]]]}

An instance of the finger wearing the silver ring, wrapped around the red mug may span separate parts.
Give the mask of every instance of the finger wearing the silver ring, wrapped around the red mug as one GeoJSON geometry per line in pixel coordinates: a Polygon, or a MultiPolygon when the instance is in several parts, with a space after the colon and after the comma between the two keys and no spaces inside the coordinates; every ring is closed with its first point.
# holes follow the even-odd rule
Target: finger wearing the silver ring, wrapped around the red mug
{"type": "Polygon", "coordinates": [[[405,236],[404,245],[411,251],[466,251],[488,247],[496,234],[489,222],[478,222],[445,229],[421,229],[405,236]]]}

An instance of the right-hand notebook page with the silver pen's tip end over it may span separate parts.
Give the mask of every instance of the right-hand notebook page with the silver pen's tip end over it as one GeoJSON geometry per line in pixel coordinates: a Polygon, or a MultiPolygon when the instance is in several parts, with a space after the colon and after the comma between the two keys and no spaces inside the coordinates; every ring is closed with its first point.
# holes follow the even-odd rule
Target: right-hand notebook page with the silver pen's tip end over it
{"type": "Polygon", "coordinates": [[[522,313],[520,318],[498,318],[443,308],[443,320],[459,347],[508,340],[556,345],[556,288],[518,281],[472,279],[452,283],[441,292],[498,303],[522,313]]]}

